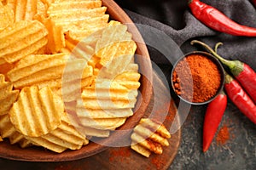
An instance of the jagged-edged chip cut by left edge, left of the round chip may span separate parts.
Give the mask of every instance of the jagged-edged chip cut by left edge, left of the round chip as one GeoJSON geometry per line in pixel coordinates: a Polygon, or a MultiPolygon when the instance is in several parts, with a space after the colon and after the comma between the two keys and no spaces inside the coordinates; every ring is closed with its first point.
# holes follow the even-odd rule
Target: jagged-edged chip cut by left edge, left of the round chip
{"type": "Polygon", "coordinates": [[[0,74],[0,115],[7,114],[18,98],[19,91],[13,90],[11,82],[5,82],[5,77],[0,74]]]}

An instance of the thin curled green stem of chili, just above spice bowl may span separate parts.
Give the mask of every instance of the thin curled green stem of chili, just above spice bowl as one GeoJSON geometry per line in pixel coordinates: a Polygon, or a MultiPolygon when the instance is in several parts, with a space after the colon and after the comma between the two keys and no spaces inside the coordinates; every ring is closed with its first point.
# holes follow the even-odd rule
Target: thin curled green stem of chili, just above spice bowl
{"type": "Polygon", "coordinates": [[[211,54],[213,54],[217,59],[219,59],[224,65],[227,65],[228,67],[230,67],[230,69],[236,67],[236,63],[234,61],[230,61],[227,59],[222,58],[220,55],[217,54],[217,48],[219,45],[222,45],[222,42],[218,42],[215,46],[215,51],[210,48],[206,43],[204,42],[200,42],[198,40],[193,40],[191,41],[191,44],[193,45],[194,43],[199,43],[201,44],[201,46],[203,46],[204,48],[206,48],[211,54]]]}

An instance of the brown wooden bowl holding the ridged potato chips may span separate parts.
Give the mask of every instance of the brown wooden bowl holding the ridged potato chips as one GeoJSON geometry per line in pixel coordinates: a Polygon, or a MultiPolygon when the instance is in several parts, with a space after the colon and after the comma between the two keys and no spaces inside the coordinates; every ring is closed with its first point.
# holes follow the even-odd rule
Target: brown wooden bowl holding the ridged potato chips
{"type": "MultiPolygon", "coordinates": [[[[129,16],[125,14],[122,8],[119,8],[113,0],[102,0],[102,4],[108,8],[108,14],[110,14],[111,19],[118,20],[123,24],[129,24],[128,31],[131,32],[132,36],[136,38],[137,41],[136,54],[143,57],[143,59],[137,60],[140,72],[144,75],[142,75],[140,79],[140,95],[137,99],[135,113],[127,119],[123,126],[118,128],[119,130],[131,129],[137,125],[137,122],[143,116],[152,96],[152,65],[148,55],[148,49],[143,43],[143,38],[129,16]]],[[[0,157],[19,161],[72,161],[95,155],[96,153],[107,149],[113,142],[119,142],[120,139],[128,137],[130,137],[130,133],[113,132],[108,138],[100,139],[100,144],[90,142],[90,144],[85,145],[80,150],[65,150],[61,154],[37,146],[21,149],[18,145],[9,144],[9,141],[5,140],[4,142],[0,142],[0,157]]]]}

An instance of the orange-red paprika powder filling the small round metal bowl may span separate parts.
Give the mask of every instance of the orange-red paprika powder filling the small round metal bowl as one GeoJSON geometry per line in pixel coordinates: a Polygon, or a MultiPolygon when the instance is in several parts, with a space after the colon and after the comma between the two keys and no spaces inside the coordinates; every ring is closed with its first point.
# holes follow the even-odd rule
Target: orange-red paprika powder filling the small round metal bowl
{"type": "Polygon", "coordinates": [[[172,82],[177,95],[190,102],[211,99],[221,82],[218,66],[203,54],[189,54],[174,68],[172,82]]]}

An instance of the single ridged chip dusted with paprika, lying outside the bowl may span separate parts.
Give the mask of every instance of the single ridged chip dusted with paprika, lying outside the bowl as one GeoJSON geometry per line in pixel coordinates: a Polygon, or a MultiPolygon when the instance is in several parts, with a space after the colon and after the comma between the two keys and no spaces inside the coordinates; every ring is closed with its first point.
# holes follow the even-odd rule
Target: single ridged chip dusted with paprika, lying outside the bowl
{"type": "Polygon", "coordinates": [[[149,118],[142,118],[131,134],[131,149],[137,153],[149,157],[151,152],[163,153],[163,146],[168,146],[167,139],[171,134],[160,122],[149,118]]]}

